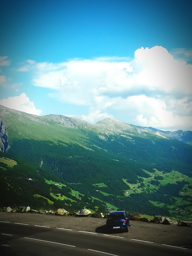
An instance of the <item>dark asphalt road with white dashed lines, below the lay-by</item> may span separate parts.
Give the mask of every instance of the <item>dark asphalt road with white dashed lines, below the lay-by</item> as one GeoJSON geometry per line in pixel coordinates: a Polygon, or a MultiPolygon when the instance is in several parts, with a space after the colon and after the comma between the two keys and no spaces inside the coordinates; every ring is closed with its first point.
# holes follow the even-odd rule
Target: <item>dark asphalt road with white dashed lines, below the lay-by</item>
{"type": "Polygon", "coordinates": [[[62,228],[0,222],[0,231],[19,256],[167,256],[191,255],[191,250],[147,243],[122,236],[62,228]]]}

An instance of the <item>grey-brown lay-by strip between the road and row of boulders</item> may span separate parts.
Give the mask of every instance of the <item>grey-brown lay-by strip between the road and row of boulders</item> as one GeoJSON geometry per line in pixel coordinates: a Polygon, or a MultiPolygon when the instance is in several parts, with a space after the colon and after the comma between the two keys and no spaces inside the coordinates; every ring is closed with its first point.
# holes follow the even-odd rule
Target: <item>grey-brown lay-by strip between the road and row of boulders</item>
{"type": "MultiPolygon", "coordinates": [[[[81,230],[100,234],[109,234],[109,231],[105,228],[105,218],[56,216],[40,213],[0,212],[0,221],[61,227],[76,231],[81,230]]],[[[120,231],[116,231],[114,233],[113,231],[110,232],[110,234],[192,249],[191,227],[171,226],[132,220],[128,233],[120,233],[120,231]]]]}

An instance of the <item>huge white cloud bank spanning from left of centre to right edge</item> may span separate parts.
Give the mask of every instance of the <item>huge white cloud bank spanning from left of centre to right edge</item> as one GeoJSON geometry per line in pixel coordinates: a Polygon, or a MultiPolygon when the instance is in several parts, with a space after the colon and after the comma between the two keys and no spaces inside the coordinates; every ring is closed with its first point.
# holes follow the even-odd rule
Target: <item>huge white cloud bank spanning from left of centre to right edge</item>
{"type": "Polygon", "coordinates": [[[81,116],[86,121],[114,117],[164,130],[192,130],[192,65],[161,46],[137,49],[133,59],[31,64],[36,68],[33,85],[51,89],[49,97],[60,102],[88,106],[89,114],[81,116]]]}

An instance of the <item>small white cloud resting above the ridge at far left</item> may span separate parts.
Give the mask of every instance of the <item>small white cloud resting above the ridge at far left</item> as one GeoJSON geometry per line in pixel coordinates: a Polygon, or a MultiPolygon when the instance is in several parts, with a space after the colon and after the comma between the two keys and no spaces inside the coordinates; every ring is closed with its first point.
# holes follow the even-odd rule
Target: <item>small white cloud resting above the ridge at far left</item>
{"type": "Polygon", "coordinates": [[[20,96],[2,99],[0,100],[0,105],[32,115],[40,115],[42,113],[42,110],[35,108],[34,103],[29,100],[25,93],[20,94],[20,96]]]}

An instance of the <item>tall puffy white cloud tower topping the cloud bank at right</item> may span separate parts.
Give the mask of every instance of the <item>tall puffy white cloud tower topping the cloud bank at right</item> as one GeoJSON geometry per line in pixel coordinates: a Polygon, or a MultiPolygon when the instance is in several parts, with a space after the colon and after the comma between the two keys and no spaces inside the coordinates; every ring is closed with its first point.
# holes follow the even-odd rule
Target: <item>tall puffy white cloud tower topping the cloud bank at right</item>
{"type": "Polygon", "coordinates": [[[163,47],[137,49],[134,66],[140,67],[136,73],[136,83],[146,90],[156,90],[178,97],[192,93],[192,65],[175,60],[163,47]]]}

